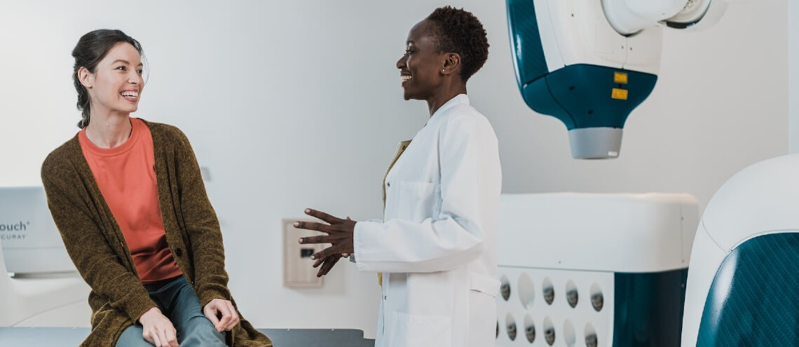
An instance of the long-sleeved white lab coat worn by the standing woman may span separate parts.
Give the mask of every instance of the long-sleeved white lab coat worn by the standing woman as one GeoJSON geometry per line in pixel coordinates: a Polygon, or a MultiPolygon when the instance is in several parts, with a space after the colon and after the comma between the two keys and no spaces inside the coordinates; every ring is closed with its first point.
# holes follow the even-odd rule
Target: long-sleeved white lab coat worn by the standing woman
{"type": "Polygon", "coordinates": [[[494,130],[460,94],[388,173],[385,222],[355,225],[358,269],[384,273],[376,347],[494,345],[501,186],[494,130]]]}

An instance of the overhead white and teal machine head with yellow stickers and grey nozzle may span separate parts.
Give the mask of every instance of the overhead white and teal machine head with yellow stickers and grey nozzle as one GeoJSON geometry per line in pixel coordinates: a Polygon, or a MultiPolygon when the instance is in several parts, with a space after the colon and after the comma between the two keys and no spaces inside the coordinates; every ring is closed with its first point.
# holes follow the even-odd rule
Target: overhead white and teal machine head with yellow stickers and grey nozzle
{"type": "Polygon", "coordinates": [[[571,155],[617,158],[627,116],[654,89],[662,30],[705,28],[728,0],[507,0],[527,106],[569,130],[571,155]]]}

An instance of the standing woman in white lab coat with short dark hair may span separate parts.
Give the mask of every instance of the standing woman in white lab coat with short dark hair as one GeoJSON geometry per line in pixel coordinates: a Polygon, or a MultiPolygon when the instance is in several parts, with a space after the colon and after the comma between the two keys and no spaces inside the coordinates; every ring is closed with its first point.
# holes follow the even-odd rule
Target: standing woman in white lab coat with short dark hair
{"type": "Polygon", "coordinates": [[[397,68],[404,98],[427,101],[431,117],[384,179],[384,221],[306,209],[327,224],[295,223],[328,234],[300,238],[332,243],[312,256],[319,276],[350,254],[361,271],[383,273],[378,347],[494,345],[502,175],[494,130],[466,95],[487,54],[467,11],[442,7],[413,26],[397,68]]]}

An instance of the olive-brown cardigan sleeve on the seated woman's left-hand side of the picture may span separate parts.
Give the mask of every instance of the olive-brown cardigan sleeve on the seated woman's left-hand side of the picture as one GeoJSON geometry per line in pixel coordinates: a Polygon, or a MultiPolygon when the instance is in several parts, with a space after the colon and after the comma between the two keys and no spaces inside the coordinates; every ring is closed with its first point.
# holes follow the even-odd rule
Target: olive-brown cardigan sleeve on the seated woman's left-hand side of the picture
{"type": "Polygon", "coordinates": [[[52,158],[42,164],[42,183],[47,205],[53,215],[67,253],[94,293],[107,297],[109,304],[131,321],[157,307],[135,273],[121,263],[101,227],[89,213],[88,193],[81,194],[79,177],[65,160],[52,158]],[[83,195],[83,196],[81,196],[83,195]]]}

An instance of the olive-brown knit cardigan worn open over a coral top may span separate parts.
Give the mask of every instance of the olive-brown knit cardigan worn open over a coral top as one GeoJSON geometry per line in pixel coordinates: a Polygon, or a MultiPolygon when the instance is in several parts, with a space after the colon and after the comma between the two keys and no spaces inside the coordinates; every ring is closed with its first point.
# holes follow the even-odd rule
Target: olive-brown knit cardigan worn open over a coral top
{"type": "MultiPolygon", "coordinates": [[[[233,301],[219,221],[189,140],[174,126],[145,124],[153,134],[161,219],[175,262],[202,307],[215,298],[233,301]]],[[[92,289],[92,331],[81,346],[113,346],[122,330],[157,305],[139,280],[125,237],[97,188],[77,135],[47,156],[42,182],[66,250],[92,289]]],[[[243,318],[228,337],[229,345],[272,346],[243,318]]]]}

